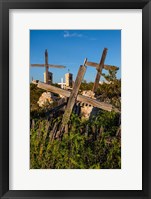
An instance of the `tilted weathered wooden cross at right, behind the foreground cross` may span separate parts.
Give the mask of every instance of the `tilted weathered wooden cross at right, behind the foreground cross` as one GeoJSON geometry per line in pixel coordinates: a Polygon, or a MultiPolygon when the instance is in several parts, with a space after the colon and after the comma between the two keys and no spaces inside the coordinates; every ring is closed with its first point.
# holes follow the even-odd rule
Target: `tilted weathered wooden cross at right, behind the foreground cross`
{"type": "Polygon", "coordinates": [[[86,66],[95,67],[96,70],[97,70],[97,75],[96,75],[94,86],[93,86],[93,89],[92,89],[92,91],[94,93],[96,92],[96,90],[98,88],[99,81],[100,81],[100,78],[101,78],[101,75],[102,75],[102,70],[103,69],[106,69],[106,70],[117,70],[118,69],[118,67],[116,67],[116,66],[104,65],[105,58],[106,58],[106,55],[107,55],[107,50],[108,50],[107,48],[104,48],[99,64],[94,63],[94,62],[88,62],[88,61],[85,63],[86,66]]]}

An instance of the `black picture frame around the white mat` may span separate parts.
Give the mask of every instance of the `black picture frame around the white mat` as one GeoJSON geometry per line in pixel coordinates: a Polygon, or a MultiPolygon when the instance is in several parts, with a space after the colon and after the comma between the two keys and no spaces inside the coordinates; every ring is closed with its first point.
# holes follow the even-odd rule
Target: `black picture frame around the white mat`
{"type": "MultiPolygon", "coordinates": [[[[0,0],[0,196],[1,198],[151,198],[151,1],[0,0]],[[143,188],[115,191],[9,190],[9,9],[142,9],[143,188]]],[[[135,53],[135,52],[134,52],[135,53]]],[[[80,180],[80,179],[79,179],[80,180]]],[[[131,179],[129,179],[131,180],[131,179]]]]}

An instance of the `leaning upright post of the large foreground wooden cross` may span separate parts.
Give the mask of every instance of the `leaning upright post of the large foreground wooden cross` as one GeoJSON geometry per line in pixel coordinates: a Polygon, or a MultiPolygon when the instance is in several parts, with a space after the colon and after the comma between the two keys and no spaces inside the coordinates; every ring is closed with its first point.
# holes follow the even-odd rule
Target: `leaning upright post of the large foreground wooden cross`
{"type": "Polygon", "coordinates": [[[79,88],[80,88],[80,85],[81,85],[81,82],[82,82],[82,79],[83,79],[85,72],[86,72],[86,66],[84,64],[84,65],[80,66],[80,68],[79,68],[79,71],[78,71],[78,74],[77,74],[77,77],[76,77],[76,80],[75,80],[75,83],[74,83],[73,90],[72,90],[71,95],[69,97],[65,113],[63,115],[60,131],[58,132],[57,137],[62,136],[64,128],[69,122],[70,115],[72,113],[73,106],[76,102],[78,91],[79,91],[79,88]]]}

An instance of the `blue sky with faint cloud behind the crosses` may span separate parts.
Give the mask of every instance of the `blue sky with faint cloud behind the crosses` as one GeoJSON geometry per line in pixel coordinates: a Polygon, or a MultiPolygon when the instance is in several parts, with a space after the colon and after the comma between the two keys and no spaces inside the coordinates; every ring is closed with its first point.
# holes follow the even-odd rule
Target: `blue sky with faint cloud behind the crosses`
{"type": "MultiPolygon", "coordinates": [[[[102,51],[108,48],[105,64],[121,69],[120,30],[30,30],[30,64],[44,64],[44,52],[48,50],[49,64],[66,66],[65,69],[49,68],[53,72],[53,82],[61,82],[70,70],[75,80],[79,66],[84,59],[100,62],[102,51]]],[[[121,78],[119,69],[117,77],[121,78]]],[[[30,80],[33,77],[43,81],[45,68],[30,67],[30,80]]],[[[104,73],[105,70],[103,70],[104,73]]],[[[96,69],[87,67],[84,79],[94,82],[96,69]]]]}

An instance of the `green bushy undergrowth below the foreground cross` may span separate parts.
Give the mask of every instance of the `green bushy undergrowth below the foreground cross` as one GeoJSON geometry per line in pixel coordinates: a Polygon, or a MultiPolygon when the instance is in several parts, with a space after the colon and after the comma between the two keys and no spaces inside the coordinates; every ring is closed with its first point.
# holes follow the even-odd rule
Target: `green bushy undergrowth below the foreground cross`
{"type": "Polygon", "coordinates": [[[50,141],[56,120],[60,122],[61,118],[39,120],[31,129],[32,169],[121,168],[121,144],[116,136],[118,114],[100,112],[88,121],[81,121],[77,115],[72,114],[68,134],[64,134],[61,141],[50,141]]]}

